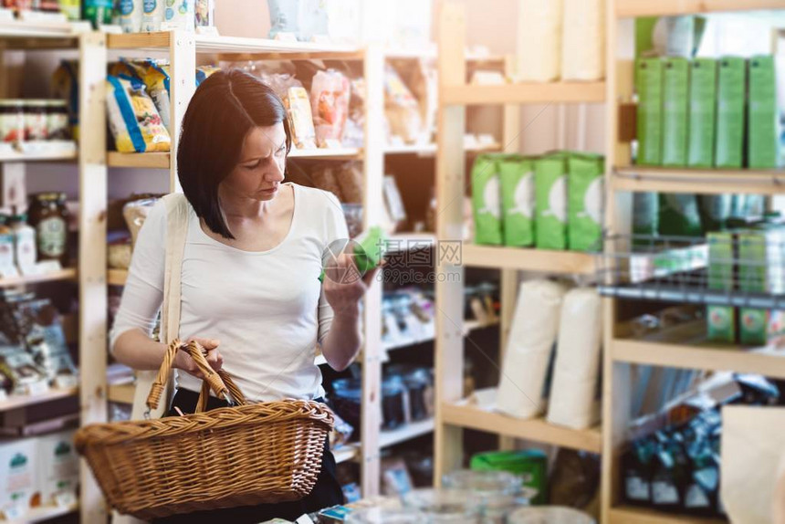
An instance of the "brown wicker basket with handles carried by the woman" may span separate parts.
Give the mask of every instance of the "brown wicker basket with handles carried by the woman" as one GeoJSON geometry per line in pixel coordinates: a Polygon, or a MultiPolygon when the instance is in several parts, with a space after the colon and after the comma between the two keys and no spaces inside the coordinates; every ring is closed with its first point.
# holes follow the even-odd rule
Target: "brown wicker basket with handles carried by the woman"
{"type": "Polygon", "coordinates": [[[180,341],[166,353],[147,400],[151,409],[178,349],[188,351],[205,376],[196,414],[93,424],[76,435],[78,452],[111,507],[149,520],[308,495],[332,428],[330,410],[310,401],[246,403],[224,372],[210,368],[198,344],[180,341]],[[241,405],[204,412],[208,383],[241,405]]]}

